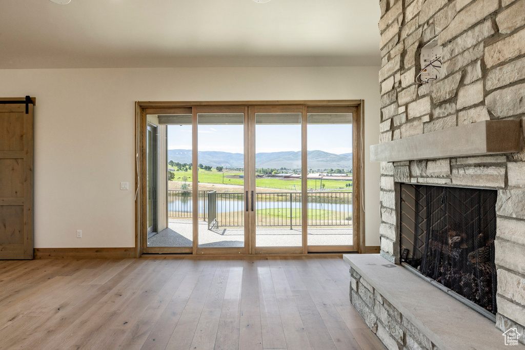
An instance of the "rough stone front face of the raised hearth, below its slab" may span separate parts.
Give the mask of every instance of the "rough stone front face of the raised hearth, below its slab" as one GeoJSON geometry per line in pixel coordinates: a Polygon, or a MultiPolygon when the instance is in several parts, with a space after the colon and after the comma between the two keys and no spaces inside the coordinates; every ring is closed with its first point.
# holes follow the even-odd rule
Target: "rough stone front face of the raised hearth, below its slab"
{"type": "Polygon", "coordinates": [[[439,350],[353,268],[350,276],[350,301],[388,350],[439,350]]]}

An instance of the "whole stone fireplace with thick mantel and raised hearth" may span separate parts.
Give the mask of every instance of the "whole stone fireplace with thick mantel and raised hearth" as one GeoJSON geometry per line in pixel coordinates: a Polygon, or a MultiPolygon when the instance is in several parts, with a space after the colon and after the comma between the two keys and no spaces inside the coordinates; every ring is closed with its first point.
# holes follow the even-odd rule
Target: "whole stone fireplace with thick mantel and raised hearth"
{"type": "MultiPolygon", "coordinates": [[[[380,144],[371,147],[371,160],[381,161],[379,235],[384,263],[348,258],[349,262],[355,260],[353,265],[351,262],[352,303],[387,348],[437,348],[429,338],[434,334],[432,327],[419,323],[423,316],[414,316],[417,311],[408,308],[403,310],[411,316],[404,317],[402,310],[393,306],[394,301],[388,301],[382,294],[394,297],[395,291],[382,290],[380,282],[362,273],[370,272],[376,279],[381,276],[384,280],[394,274],[406,276],[398,269],[403,253],[401,184],[481,188],[496,196],[493,241],[496,303],[491,307],[495,311],[495,327],[501,331],[500,336],[509,328],[523,335],[525,0],[380,0],[379,3],[380,144]],[[442,68],[435,81],[421,84],[416,80],[422,68],[419,55],[422,47],[435,38],[442,46],[439,58],[442,68]],[[367,270],[372,265],[396,272],[381,274],[367,270]]],[[[481,253],[480,248],[471,246],[467,259],[473,251],[481,253]]],[[[405,307],[409,300],[398,295],[395,303],[405,307]]],[[[484,324],[480,327],[487,326],[475,314],[468,319],[472,324],[478,321],[484,324]]],[[[495,329],[494,323],[491,327],[495,329]]],[[[484,333],[491,332],[486,329],[484,333]]],[[[440,342],[444,334],[441,338],[436,335],[435,340],[440,342]]],[[[450,342],[454,342],[453,338],[450,342]]],[[[525,335],[519,342],[525,344],[525,335]]],[[[499,348],[478,345],[478,348],[499,348]]],[[[447,342],[441,346],[447,348],[447,342]]]]}

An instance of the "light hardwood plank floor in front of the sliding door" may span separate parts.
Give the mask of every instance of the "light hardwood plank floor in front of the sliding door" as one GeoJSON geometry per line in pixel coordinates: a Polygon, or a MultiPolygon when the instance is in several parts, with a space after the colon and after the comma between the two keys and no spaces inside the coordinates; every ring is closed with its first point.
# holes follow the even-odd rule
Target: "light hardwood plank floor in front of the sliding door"
{"type": "Polygon", "coordinates": [[[0,261],[0,349],[384,349],[341,258],[0,261]]]}

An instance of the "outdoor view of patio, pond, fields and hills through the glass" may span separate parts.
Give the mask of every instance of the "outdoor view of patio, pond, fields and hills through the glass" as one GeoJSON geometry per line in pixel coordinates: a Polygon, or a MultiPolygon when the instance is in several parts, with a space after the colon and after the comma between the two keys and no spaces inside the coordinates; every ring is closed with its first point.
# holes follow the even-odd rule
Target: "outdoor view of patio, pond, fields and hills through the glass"
{"type": "MultiPolygon", "coordinates": [[[[308,168],[302,174],[300,119],[278,125],[260,120],[253,204],[256,246],[301,246],[302,205],[308,207],[308,245],[352,245],[352,125],[309,123],[308,168]],[[305,200],[302,176],[308,179],[305,200]]],[[[149,239],[149,246],[192,246],[191,131],[191,125],[167,128],[169,229],[149,239]]],[[[199,120],[199,247],[244,246],[244,214],[251,203],[244,198],[243,133],[240,123],[199,120]]]]}

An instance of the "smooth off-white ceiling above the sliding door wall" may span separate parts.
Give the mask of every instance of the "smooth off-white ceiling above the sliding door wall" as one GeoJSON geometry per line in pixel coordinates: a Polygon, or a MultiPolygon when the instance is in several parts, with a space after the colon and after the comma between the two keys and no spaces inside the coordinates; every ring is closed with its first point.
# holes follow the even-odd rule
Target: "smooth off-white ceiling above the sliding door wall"
{"type": "Polygon", "coordinates": [[[377,0],[0,0],[0,68],[379,66],[377,0]]]}

